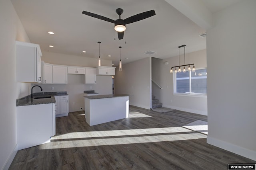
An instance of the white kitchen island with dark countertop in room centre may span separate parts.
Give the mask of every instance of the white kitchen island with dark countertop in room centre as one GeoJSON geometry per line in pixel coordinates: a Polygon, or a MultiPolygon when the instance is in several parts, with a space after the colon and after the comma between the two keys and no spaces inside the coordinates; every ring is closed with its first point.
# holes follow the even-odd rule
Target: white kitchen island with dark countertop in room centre
{"type": "Polygon", "coordinates": [[[84,96],[85,119],[88,125],[98,125],[129,117],[128,94],[84,96]]]}

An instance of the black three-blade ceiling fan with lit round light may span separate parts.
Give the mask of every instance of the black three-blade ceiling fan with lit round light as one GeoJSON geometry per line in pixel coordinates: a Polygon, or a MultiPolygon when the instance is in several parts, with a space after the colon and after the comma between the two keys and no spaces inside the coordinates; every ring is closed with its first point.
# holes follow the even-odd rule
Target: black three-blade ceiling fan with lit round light
{"type": "Polygon", "coordinates": [[[146,18],[149,18],[151,16],[156,15],[155,10],[150,10],[150,11],[142,12],[140,14],[137,14],[137,15],[134,15],[134,16],[131,16],[129,18],[126,18],[126,19],[122,20],[121,19],[121,14],[123,12],[124,12],[124,10],[121,9],[121,8],[116,9],[116,13],[119,15],[119,19],[117,19],[117,20],[112,20],[110,18],[106,18],[104,16],[100,16],[98,14],[94,14],[94,13],[87,12],[87,11],[83,11],[82,13],[85,14],[85,15],[94,17],[94,18],[98,18],[100,20],[104,20],[104,21],[114,23],[115,24],[115,30],[117,31],[117,34],[118,34],[118,39],[123,39],[124,38],[124,30],[126,29],[126,27],[125,27],[126,24],[133,23],[133,22],[140,21],[140,20],[144,20],[146,18]]]}

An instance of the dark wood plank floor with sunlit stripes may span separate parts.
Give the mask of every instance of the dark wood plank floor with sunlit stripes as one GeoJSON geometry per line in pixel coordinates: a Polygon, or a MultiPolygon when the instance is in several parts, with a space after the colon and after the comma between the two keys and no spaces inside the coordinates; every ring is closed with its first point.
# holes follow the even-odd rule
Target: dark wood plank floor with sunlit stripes
{"type": "Polygon", "coordinates": [[[226,170],[228,163],[255,163],[181,127],[196,120],[207,117],[130,106],[130,118],[90,127],[84,111],[72,112],[56,118],[51,143],[19,150],[10,170],[226,170]]]}

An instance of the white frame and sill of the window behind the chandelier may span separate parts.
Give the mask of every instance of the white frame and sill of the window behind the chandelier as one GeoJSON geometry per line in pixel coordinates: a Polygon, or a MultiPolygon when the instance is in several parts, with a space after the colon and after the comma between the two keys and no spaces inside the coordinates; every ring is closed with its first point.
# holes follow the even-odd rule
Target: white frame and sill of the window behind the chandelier
{"type": "MultiPolygon", "coordinates": [[[[207,67],[203,67],[203,68],[196,68],[196,70],[201,70],[201,69],[206,69],[207,70],[207,67]]],[[[187,71],[186,71],[187,72],[187,71]]],[[[192,72],[192,70],[191,70],[192,72]]],[[[207,98],[207,93],[192,93],[191,92],[191,72],[189,73],[189,90],[190,92],[189,93],[179,93],[179,92],[176,92],[176,73],[173,72],[174,76],[173,76],[173,95],[174,96],[188,96],[188,97],[200,97],[200,98],[207,98]]],[[[178,73],[178,72],[177,72],[178,73]]]]}

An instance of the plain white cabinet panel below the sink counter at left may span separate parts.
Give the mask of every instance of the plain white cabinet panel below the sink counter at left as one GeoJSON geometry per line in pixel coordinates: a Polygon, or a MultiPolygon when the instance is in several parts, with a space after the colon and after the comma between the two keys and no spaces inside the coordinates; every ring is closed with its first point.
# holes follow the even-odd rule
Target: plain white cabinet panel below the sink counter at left
{"type": "Polygon", "coordinates": [[[50,142],[55,135],[55,104],[18,106],[18,150],[50,142]]]}

